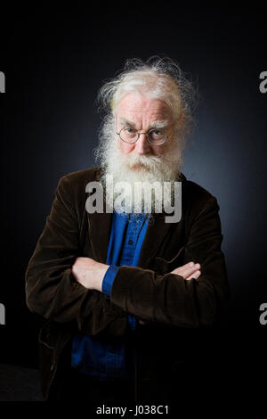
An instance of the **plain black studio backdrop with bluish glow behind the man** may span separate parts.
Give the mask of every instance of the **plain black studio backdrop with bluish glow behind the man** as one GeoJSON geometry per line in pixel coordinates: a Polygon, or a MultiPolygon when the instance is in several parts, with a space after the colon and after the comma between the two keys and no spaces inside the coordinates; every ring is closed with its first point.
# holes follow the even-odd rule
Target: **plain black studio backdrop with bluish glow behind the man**
{"type": "Polygon", "coordinates": [[[1,20],[0,302],[6,325],[0,325],[0,363],[37,367],[39,321],[25,304],[25,270],[60,177],[95,164],[99,88],[127,58],[160,55],[179,62],[200,94],[182,171],[220,205],[231,287],[219,333],[222,356],[227,353],[232,365],[239,357],[245,368],[255,365],[267,332],[259,324],[259,306],[267,302],[263,3],[116,3],[60,11],[23,4],[12,11],[3,6],[1,20]]]}

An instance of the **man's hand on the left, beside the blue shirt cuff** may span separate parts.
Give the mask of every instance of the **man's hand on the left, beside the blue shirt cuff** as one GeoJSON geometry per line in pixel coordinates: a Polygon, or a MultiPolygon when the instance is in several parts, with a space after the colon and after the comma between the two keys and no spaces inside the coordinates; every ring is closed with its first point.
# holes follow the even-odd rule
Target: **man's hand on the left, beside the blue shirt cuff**
{"type": "Polygon", "coordinates": [[[78,283],[89,290],[102,290],[103,277],[109,265],[96,262],[91,258],[77,258],[72,265],[72,274],[78,283]]]}

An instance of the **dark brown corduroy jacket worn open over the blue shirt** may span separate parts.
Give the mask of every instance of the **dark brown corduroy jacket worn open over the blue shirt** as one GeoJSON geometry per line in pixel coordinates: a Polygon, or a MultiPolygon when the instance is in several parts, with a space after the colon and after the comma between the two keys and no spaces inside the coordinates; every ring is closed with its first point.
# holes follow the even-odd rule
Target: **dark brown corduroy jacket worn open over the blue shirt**
{"type": "Polygon", "coordinates": [[[102,263],[107,258],[112,214],[85,209],[85,186],[99,180],[100,172],[89,168],[61,177],[28,263],[28,308],[46,319],[39,334],[44,398],[71,338],[77,333],[122,337],[128,314],[144,322],[136,322],[135,331],[136,398],[146,386],[158,391],[158,382],[175,375],[180,362],[173,349],[175,336],[185,329],[214,326],[229,295],[218,203],[183,175],[181,220],[167,224],[164,213],[154,215],[139,266],[119,267],[110,298],[77,283],[71,267],[78,256],[102,263]],[[198,280],[170,274],[189,261],[201,264],[198,280]]]}

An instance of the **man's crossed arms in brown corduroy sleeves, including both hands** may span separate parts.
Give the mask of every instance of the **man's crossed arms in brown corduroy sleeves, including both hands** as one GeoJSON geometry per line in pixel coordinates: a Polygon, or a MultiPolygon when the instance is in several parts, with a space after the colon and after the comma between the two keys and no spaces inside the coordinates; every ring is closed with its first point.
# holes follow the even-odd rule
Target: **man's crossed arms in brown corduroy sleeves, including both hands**
{"type": "Polygon", "coordinates": [[[101,292],[108,268],[80,257],[77,206],[62,177],[26,272],[28,308],[81,333],[124,334],[127,314],[145,323],[184,327],[214,324],[228,296],[221,251],[221,224],[214,197],[194,218],[185,244],[184,265],[165,275],[142,267],[119,267],[110,298],[101,292]],[[198,259],[200,266],[190,266],[198,259]]]}

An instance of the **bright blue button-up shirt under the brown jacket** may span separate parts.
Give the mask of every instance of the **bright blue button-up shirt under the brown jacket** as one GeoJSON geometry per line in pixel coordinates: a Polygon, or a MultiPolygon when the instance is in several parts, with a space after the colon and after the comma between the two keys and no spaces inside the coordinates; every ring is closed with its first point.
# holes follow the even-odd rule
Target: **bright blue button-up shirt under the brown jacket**
{"type": "MultiPolygon", "coordinates": [[[[109,268],[102,281],[102,292],[110,296],[118,267],[137,267],[149,217],[145,214],[113,213],[106,263],[109,268]]],[[[135,318],[128,315],[129,333],[134,333],[135,318]]],[[[134,348],[125,338],[78,334],[72,343],[71,366],[100,380],[134,380],[134,348]]]]}

